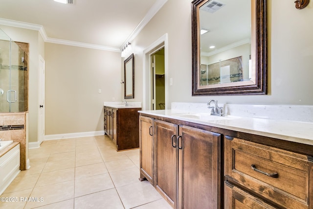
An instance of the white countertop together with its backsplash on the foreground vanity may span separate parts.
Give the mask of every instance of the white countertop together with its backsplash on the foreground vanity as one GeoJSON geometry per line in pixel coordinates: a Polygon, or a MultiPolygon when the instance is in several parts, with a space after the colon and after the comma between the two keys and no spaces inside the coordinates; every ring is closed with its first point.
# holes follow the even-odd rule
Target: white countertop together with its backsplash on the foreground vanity
{"type": "Polygon", "coordinates": [[[205,120],[179,116],[209,113],[206,103],[173,102],[171,110],[139,111],[233,131],[313,145],[313,106],[219,104],[235,119],[205,120]]]}

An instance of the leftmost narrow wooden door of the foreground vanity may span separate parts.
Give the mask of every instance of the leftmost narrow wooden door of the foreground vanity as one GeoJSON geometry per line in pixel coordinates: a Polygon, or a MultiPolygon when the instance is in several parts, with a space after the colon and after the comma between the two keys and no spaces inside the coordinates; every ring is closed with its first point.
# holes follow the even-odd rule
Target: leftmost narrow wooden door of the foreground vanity
{"type": "Polygon", "coordinates": [[[147,179],[154,185],[153,178],[153,119],[139,117],[139,152],[140,152],[140,180],[147,179]]]}

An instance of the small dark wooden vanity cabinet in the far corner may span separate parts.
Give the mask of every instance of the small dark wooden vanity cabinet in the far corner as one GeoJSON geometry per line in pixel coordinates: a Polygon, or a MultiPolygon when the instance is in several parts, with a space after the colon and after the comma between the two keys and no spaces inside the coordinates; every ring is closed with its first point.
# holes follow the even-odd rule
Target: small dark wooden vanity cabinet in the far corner
{"type": "Polygon", "coordinates": [[[104,131],[116,144],[117,151],[139,147],[139,110],[104,107],[104,131]]]}

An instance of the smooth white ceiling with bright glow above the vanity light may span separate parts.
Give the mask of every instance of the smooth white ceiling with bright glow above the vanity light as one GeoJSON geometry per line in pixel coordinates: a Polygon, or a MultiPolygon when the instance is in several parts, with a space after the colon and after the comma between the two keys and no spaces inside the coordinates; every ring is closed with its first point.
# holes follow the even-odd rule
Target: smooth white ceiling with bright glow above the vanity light
{"type": "Polygon", "coordinates": [[[36,24],[42,26],[48,42],[65,40],[119,50],[166,1],[74,0],[74,4],[63,4],[53,0],[0,0],[0,24],[36,24]]]}

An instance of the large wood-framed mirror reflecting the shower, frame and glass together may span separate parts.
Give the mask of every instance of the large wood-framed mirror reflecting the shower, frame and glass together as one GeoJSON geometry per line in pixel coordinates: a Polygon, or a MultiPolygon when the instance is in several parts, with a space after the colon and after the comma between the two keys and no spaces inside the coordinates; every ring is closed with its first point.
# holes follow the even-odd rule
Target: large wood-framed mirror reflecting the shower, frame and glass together
{"type": "Polygon", "coordinates": [[[191,4],[192,95],[267,94],[267,0],[191,4]]]}

